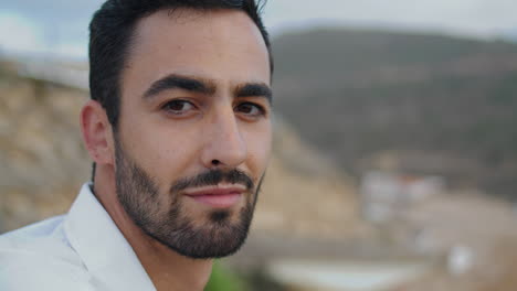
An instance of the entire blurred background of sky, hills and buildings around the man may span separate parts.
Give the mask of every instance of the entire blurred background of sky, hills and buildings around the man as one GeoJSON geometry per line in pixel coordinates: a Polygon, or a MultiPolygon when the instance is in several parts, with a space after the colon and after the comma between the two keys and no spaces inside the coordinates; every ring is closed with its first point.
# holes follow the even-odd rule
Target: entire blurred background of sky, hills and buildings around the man
{"type": "MultiPolygon", "coordinates": [[[[91,161],[101,0],[0,3],[0,233],[65,213],[91,161]]],[[[271,0],[274,155],[207,290],[517,290],[517,2],[271,0]]]]}

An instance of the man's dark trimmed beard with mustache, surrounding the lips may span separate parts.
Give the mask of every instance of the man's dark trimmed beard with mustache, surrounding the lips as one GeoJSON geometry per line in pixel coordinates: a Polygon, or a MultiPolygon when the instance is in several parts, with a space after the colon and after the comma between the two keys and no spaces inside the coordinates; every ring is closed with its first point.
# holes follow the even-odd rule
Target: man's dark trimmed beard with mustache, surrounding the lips
{"type": "Polygon", "coordinates": [[[116,193],[122,206],[145,234],[171,250],[194,259],[221,258],[236,252],[245,242],[262,177],[255,188],[252,179],[242,171],[209,170],[176,181],[167,193],[169,197],[163,200],[152,177],[124,152],[117,138],[115,164],[116,193]],[[221,182],[245,185],[246,192],[242,194],[245,205],[239,209],[236,219],[232,209],[213,209],[203,213],[200,224],[199,217],[192,217],[181,203],[180,192],[221,182]],[[168,202],[167,207],[163,201],[168,202]]]}

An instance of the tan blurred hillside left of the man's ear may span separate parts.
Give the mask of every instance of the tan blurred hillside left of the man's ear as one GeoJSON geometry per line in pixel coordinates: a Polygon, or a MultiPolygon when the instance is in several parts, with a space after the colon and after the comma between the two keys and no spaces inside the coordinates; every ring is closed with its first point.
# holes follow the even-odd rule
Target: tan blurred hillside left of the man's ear
{"type": "Polygon", "coordinates": [[[86,91],[0,73],[0,233],[67,211],[89,175],[78,112],[86,91]]]}

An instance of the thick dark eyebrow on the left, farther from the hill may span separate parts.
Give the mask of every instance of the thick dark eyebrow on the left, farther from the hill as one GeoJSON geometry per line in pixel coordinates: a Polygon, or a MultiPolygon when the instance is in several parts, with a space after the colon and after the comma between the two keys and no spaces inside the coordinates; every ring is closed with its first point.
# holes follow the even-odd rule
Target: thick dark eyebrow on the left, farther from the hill
{"type": "Polygon", "coordinates": [[[215,85],[210,80],[172,74],[152,83],[146,93],[144,93],[144,98],[150,98],[165,90],[172,89],[182,89],[207,95],[215,94],[215,85]]]}

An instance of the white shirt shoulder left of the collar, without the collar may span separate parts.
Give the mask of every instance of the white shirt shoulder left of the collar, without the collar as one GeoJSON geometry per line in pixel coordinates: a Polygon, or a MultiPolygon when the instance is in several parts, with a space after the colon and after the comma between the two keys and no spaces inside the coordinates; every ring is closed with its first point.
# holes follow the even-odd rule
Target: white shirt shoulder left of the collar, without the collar
{"type": "Polygon", "coordinates": [[[0,290],[93,290],[67,242],[64,216],[0,236],[0,290]]]}

